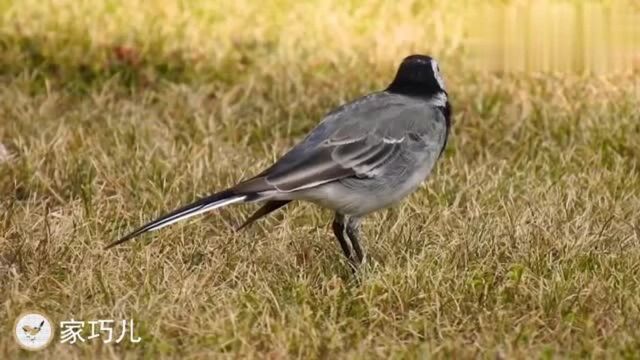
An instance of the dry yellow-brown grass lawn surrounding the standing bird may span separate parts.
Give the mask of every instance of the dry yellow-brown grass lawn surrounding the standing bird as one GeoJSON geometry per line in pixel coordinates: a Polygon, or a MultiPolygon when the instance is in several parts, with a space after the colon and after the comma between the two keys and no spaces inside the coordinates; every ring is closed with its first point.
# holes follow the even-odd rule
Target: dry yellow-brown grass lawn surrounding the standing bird
{"type": "MultiPolygon", "coordinates": [[[[144,339],[56,339],[49,358],[640,353],[637,74],[470,70],[454,32],[429,31],[455,20],[445,5],[1,4],[2,334],[37,308],[134,318],[144,339]],[[102,250],[258,172],[414,51],[442,58],[454,132],[429,182],[365,222],[359,282],[331,214],[304,204],[242,233],[249,206],[102,250]]],[[[3,335],[0,357],[27,355],[3,335]]]]}

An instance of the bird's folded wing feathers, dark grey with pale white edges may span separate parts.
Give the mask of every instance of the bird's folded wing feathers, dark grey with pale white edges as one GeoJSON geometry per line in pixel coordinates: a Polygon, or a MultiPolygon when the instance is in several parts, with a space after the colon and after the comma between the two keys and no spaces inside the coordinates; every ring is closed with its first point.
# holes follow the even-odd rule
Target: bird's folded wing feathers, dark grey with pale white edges
{"type": "Polygon", "coordinates": [[[330,139],[287,166],[263,174],[262,179],[279,191],[290,192],[350,176],[373,176],[376,169],[398,155],[403,140],[375,134],[330,139]]]}

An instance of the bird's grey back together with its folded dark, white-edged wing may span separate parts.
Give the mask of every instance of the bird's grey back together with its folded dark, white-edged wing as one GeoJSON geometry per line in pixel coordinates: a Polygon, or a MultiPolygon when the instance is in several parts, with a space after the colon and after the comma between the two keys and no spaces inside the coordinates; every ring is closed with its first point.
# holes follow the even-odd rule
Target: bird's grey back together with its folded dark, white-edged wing
{"type": "Polygon", "coordinates": [[[367,177],[435,131],[433,108],[424,101],[373,94],[332,113],[278,162],[249,184],[280,192],[318,186],[346,177],[367,177]]]}

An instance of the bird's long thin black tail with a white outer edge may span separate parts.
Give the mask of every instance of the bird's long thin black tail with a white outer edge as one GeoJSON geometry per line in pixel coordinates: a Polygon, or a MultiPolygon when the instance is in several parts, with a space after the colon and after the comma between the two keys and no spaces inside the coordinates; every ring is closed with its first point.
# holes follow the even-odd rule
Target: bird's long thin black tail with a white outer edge
{"type": "Polygon", "coordinates": [[[161,229],[165,226],[171,225],[175,222],[188,219],[192,216],[202,214],[204,212],[217,209],[219,207],[237,203],[244,202],[245,200],[253,200],[255,196],[247,195],[247,194],[238,194],[232,189],[221,191],[219,193],[213,194],[211,196],[207,196],[202,198],[192,204],[184,206],[178,210],[172,211],[169,214],[166,214],[152,222],[138,228],[127,236],[123,237],[118,241],[114,241],[111,244],[107,245],[105,249],[112,248],[118,244],[122,244],[127,240],[131,240],[134,237],[144,234],[148,231],[154,231],[161,229]],[[250,199],[251,198],[251,199],[250,199]]]}

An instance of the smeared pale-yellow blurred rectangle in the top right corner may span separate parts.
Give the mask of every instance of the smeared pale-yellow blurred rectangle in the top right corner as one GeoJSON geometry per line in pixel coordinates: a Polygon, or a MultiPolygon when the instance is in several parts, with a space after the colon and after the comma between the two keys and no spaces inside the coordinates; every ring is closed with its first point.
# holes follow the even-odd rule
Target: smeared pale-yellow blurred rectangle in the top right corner
{"type": "Polygon", "coordinates": [[[640,68],[632,1],[505,1],[469,9],[478,67],[518,72],[629,73],[640,68]]]}

